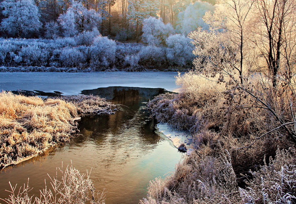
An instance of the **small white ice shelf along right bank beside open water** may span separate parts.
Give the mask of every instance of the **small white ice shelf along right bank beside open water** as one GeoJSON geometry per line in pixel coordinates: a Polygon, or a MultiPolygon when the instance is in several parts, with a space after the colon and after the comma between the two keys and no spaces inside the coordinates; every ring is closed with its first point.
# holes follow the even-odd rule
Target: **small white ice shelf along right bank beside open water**
{"type": "Polygon", "coordinates": [[[176,148],[178,148],[181,144],[185,144],[187,154],[189,155],[192,152],[194,146],[192,143],[192,135],[189,131],[174,129],[167,123],[158,123],[157,128],[159,132],[163,133],[163,135],[168,137],[173,142],[173,145],[176,148]]]}

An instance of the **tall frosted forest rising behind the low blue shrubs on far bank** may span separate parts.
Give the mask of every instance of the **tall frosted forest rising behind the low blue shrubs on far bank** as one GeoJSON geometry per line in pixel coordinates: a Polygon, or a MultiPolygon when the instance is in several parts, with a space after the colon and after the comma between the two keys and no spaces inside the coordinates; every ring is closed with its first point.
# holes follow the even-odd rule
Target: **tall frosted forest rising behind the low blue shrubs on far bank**
{"type": "Polygon", "coordinates": [[[1,36],[17,38],[70,37],[98,29],[118,41],[139,40],[143,21],[160,17],[176,33],[198,26],[215,1],[189,0],[5,0],[1,2],[1,36]]]}

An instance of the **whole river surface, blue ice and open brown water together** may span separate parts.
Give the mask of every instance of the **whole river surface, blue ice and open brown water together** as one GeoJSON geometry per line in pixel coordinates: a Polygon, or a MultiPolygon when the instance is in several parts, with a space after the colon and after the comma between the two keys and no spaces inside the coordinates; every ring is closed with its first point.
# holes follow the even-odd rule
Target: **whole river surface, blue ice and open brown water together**
{"type": "Polygon", "coordinates": [[[176,91],[176,72],[0,73],[0,90],[59,91],[93,94],[118,105],[113,115],[86,116],[70,143],[17,166],[0,171],[0,198],[12,185],[29,179],[38,195],[44,179],[57,167],[72,164],[82,173],[91,169],[97,190],[105,189],[106,203],[139,203],[155,177],[173,172],[182,159],[172,142],[155,129],[145,102],[176,91]]]}

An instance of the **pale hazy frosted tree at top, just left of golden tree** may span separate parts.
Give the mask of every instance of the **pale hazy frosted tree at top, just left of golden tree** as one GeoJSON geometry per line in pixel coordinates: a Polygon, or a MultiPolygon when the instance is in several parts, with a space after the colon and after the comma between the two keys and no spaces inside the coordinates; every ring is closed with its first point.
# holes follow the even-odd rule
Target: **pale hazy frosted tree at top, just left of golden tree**
{"type": "Polygon", "coordinates": [[[205,12],[213,12],[215,6],[205,1],[196,1],[194,4],[189,4],[186,9],[178,13],[176,21],[176,29],[180,33],[187,35],[196,30],[198,27],[208,29],[208,25],[202,20],[205,12]]]}

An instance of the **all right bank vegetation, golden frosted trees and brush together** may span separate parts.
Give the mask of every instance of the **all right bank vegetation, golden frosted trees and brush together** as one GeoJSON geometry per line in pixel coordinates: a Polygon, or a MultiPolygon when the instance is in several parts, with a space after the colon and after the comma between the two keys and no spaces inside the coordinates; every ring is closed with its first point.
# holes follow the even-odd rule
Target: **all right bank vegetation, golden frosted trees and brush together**
{"type": "Polygon", "coordinates": [[[189,33],[194,71],[148,108],[189,130],[195,149],[150,182],[142,204],[296,202],[295,9],[295,0],[223,1],[203,17],[209,30],[189,33]]]}

